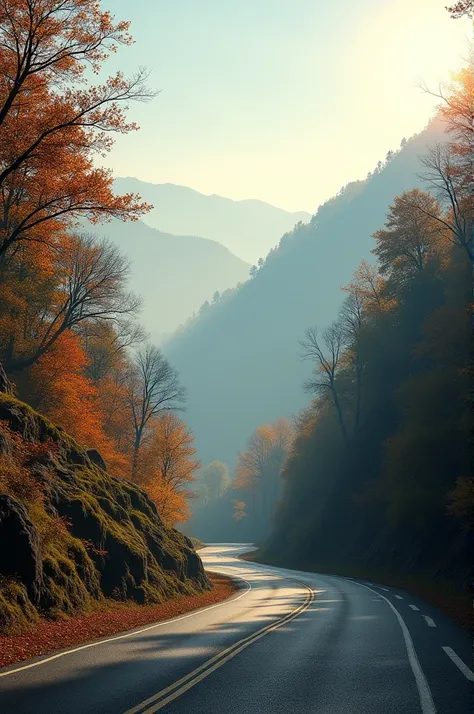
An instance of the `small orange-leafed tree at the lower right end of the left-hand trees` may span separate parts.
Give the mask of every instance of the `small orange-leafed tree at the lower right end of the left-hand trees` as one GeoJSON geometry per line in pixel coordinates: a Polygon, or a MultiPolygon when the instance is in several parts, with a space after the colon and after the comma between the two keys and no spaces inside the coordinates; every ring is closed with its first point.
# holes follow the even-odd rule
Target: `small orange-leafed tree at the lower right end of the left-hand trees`
{"type": "Polygon", "coordinates": [[[140,457],[137,480],[155,501],[166,523],[189,518],[190,486],[200,463],[194,436],[173,412],[161,414],[153,424],[150,443],[140,457]]]}

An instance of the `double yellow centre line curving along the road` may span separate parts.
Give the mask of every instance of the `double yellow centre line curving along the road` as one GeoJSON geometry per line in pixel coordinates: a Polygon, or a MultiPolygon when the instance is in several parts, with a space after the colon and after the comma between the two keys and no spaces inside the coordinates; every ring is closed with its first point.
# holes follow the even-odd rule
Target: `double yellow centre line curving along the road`
{"type": "Polygon", "coordinates": [[[216,669],[222,667],[223,664],[233,659],[233,657],[242,652],[242,650],[246,649],[247,647],[250,647],[250,645],[253,645],[254,642],[257,642],[257,640],[260,640],[262,637],[265,637],[265,635],[268,635],[269,632],[273,632],[279,627],[283,627],[283,625],[286,625],[288,622],[291,622],[291,620],[294,620],[295,617],[301,615],[301,613],[307,610],[313,602],[314,592],[304,583],[301,583],[299,581],[295,582],[297,582],[298,585],[307,590],[306,599],[301,605],[299,605],[299,607],[297,607],[295,610],[292,610],[287,615],[284,615],[280,619],[276,620],[271,625],[262,627],[260,630],[257,630],[257,632],[252,633],[248,637],[244,637],[242,640],[238,640],[227,649],[223,650],[219,654],[207,660],[207,662],[204,662],[204,664],[200,665],[189,674],[185,675],[181,679],[178,679],[169,687],[166,687],[166,689],[162,689],[160,692],[157,692],[152,697],[145,699],[136,707],[128,709],[126,712],[124,712],[124,714],[154,714],[155,712],[159,711],[167,704],[172,702],[174,699],[177,699],[182,694],[187,692],[188,689],[194,687],[196,684],[198,684],[198,682],[208,677],[210,674],[212,674],[212,672],[215,672],[216,669]]]}

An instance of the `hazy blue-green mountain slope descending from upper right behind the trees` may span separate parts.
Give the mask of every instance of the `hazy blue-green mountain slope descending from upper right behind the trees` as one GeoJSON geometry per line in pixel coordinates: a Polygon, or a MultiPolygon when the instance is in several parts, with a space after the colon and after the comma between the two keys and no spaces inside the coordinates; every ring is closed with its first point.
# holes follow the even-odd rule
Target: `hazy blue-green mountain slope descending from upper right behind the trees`
{"type": "Polygon", "coordinates": [[[362,259],[373,262],[371,234],[394,196],[420,184],[418,156],[441,136],[431,125],[380,173],[349,185],[285,236],[254,279],[166,345],[189,391],[186,419],[203,463],[233,466],[256,426],[308,403],[298,341],[336,317],[340,286],[362,259]]]}

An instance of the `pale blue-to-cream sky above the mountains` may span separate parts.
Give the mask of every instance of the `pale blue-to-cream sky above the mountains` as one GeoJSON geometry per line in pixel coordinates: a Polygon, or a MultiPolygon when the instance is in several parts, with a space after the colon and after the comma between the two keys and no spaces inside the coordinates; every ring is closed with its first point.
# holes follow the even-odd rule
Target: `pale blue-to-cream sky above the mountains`
{"type": "Polygon", "coordinates": [[[467,55],[447,0],[106,0],[135,44],[109,71],[151,70],[160,90],[106,165],[314,213],[427,123],[467,55]]]}

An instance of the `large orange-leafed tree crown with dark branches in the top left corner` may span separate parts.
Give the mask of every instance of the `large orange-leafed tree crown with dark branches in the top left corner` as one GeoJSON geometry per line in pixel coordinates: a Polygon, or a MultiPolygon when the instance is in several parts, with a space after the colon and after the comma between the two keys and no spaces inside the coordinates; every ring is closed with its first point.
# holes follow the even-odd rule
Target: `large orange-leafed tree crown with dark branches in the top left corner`
{"type": "Polygon", "coordinates": [[[109,53],[129,44],[128,23],[97,0],[0,3],[0,262],[20,242],[55,246],[78,216],[136,219],[148,206],[116,196],[94,159],[110,151],[131,100],[146,100],[146,73],[91,85],[109,53]]]}

